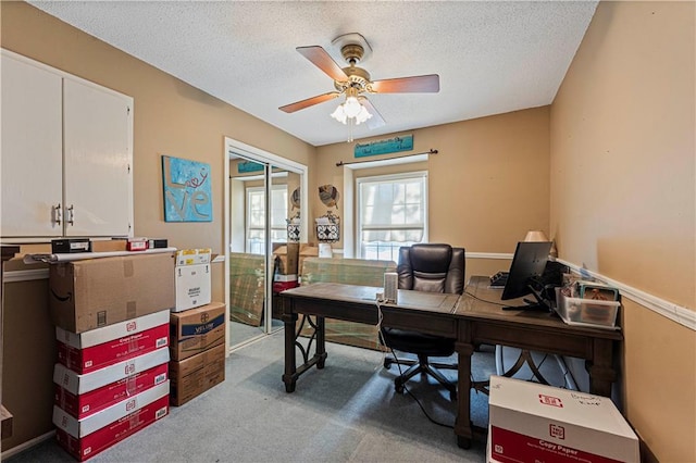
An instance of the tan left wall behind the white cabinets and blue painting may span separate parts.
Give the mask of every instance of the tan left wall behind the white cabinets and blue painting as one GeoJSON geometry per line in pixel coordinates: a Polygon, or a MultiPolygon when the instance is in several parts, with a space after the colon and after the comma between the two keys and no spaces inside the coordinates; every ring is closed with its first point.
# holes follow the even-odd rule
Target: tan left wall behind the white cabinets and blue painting
{"type": "MultiPolygon", "coordinates": [[[[314,158],[313,147],[27,3],[2,1],[0,8],[3,48],[134,98],[136,236],[167,238],[171,246],[179,249],[210,247],[215,253],[226,249],[223,243],[225,136],[307,165],[314,158]],[[212,223],[164,222],[162,154],[210,163],[212,223]]],[[[223,278],[223,266],[214,265],[214,300],[224,300],[223,278]]],[[[15,418],[14,435],[2,442],[3,450],[52,429],[54,347],[27,349],[26,346],[27,342],[34,347],[54,346],[46,301],[36,300],[37,295],[46,295],[46,280],[13,283],[7,288],[2,400],[15,418]],[[33,318],[33,324],[27,324],[27,318],[33,318]]]]}

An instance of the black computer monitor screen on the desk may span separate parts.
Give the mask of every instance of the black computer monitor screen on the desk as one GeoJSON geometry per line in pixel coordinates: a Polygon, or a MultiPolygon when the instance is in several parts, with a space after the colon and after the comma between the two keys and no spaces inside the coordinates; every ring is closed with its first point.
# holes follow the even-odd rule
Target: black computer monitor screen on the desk
{"type": "Polygon", "coordinates": [[[500,299],[515,299],[531,293],[530,284],[544,274],[550,250],[551,241],[518,242],[500,299]]]}

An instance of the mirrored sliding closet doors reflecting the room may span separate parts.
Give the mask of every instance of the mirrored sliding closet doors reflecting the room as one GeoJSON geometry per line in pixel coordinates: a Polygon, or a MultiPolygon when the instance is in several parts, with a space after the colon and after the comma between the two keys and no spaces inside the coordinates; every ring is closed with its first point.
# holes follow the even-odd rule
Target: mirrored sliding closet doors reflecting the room
{"type": "Polygon", "coordinates": [[[276,274],[275,263],[300,239],[302,175],[241,155],[229,172],[229,342],[238,346],[283,327],[273,284],[297,284],[297,272],[276,274]]]}

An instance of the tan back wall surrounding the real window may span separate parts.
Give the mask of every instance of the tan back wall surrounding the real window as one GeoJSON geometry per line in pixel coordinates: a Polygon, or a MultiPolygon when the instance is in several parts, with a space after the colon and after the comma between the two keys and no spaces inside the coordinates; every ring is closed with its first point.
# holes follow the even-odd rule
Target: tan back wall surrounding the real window
{"type": "MultiPolygon", "coordinates": [[[[549,146],[548,107],[482,117],[413,134],[411,153],[436,149],[426,163],[357,171],[356,176],[385,172],[428,171],[430,241],[464,247],[468,252],[512,253],[530,229],[548,233],[549,146]]],[[[386,139],[393,134],[376,137],[386,139]]],[[[374,139],[360,140],[361,143],[374,139]]],[[[353,145],[336,143],[318,148],[314,180],[343,190],[343,167],[337,162],[388,159],[400,152],[353,158],[353,145]]],[[[339,214],[346,210],[344,191],[339,214]]],[[[326,208],[310,191],[310,208],[316,215],[326,208]]],[[[343,241],[336,247],[343,246],[343,241]]],[[[468,260],[469,266],[475,265],[468,260]]],[[[506,262],[501,268],[509,266],[506,262]]],[[[487,273],[487,272],[486,272],[487,273]]]]}

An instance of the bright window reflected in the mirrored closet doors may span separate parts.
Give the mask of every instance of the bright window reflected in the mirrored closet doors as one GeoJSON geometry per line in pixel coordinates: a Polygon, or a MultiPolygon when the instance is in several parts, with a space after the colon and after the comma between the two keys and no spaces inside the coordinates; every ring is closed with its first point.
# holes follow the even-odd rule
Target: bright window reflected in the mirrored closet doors
{"type": "MultiPolygon", "coordinates": [[[[271,241],[287,242],[287,187],[274,185],[271,190],[271,241]]],[[[265,189],[247,188],[247,252],[265,253],[265,189]]]]}

